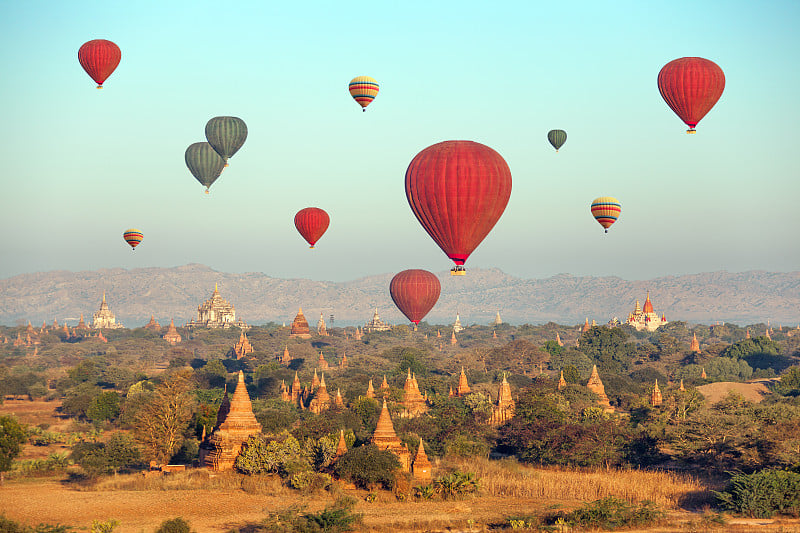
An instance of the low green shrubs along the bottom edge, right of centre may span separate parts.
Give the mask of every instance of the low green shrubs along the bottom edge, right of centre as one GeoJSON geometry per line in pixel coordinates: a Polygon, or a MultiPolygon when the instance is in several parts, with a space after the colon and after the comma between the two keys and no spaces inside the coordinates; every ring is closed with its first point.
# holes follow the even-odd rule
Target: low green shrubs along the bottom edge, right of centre
{"type": "Polygon", "coordinates": [[[666,517],[653,502],[631,504],[615,496],[587,503],[569,513],[557,513],[548,520],[571,527],[615,530],[658,524],[666,517]]]}

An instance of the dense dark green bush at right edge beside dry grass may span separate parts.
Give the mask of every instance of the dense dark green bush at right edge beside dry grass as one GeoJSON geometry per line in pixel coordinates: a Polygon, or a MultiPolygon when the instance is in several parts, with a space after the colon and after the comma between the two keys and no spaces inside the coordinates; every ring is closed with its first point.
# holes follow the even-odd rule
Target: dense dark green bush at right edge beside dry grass
{"type": "Polygon", "coordinates": [[[754,518],[775,513],[800,515],[800,474],[784,470],[762,470],[733,476],[723,492],[715,492],[727,510],[754,518]]]}

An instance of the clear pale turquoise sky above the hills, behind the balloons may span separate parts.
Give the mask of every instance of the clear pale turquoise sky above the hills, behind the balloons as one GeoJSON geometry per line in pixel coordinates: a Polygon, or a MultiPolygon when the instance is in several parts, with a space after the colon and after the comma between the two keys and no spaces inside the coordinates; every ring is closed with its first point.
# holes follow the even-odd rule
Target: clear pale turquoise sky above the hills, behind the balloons
{"type": "Polygon", "coordinates": [[[487,144],[514,185],[467,261],[523,277],[797,270],[797,2],[4,2],[0,277],[203,263],[348,280],[451,264],[403,180],[487,144]],[[77,50],[122,62],[102,91],[77,50]],[[726,75],[697,135],[662,101],[683,56],[726,75]],[[381,90],[362,113],[357,75],[381,90]],[[217,115],[249,137],[210,195],[183,161],[217,115]],[[556,154],[547,131],[569,138],[556,154]],[[589,214],[616,196],[608,235],[589,214]],[[314,251],[294,229],[316,206],[314,251]],[[136,227],[144,242],[122,240],[136,227]]]}

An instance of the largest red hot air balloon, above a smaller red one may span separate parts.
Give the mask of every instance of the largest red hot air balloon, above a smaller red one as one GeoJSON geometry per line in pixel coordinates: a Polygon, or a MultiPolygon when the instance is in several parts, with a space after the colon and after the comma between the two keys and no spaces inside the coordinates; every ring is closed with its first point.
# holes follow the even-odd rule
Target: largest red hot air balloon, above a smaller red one
{"type": "Polygon", "coordinates": [[[511,171],[500,154],[472,141],[445,141],[418,153],[406,170],[406,198],[425,231],[463,276],[464,262],[500,219],[511,171]]]}

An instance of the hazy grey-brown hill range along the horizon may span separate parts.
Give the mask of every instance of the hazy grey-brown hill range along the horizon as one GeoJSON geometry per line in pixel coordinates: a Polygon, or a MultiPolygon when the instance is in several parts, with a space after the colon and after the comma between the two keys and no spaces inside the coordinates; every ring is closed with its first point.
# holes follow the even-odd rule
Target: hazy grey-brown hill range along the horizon
{"type": "MultiPolygon", "coordinates": [[[[460,312],[462,323],[488,324],[497,311],[504,321],[561,324],[582,323],[586,317],[605,323],[624,320],[646,292],[659,315],[667,320],[754,324],[771,320],[796,326],[800,322],[800,272],[708,272],[645,281],[617,277],[575,277],[559,274],[546,279],[522,279],[500,270],[470,269],[465,277],[440,272],[442,296],[428,322],[451,323],[460,312]]],[[[236,307],[237,317],[250,324],[290,322],[302,306],[314,326],[322,312],[335,326],[363,324],[375,307],[388,322],[406,322],[389,297],[392,274],[334,283],[278,279],[252,272],[229,274],[204,265],[175,268],[122,268],[97,271],[53,271],[0,280],[0,324],[31,320],[74,324],[80,313],[91,320],[103,290],[117,321],[143,325],[150,315],[163,324],[171,317],[183,324],[196,316],[197,306],[219,284],[223,298],[236,307]]],[[[330,325],[330,324],[329,324],[330,325]]]]}

